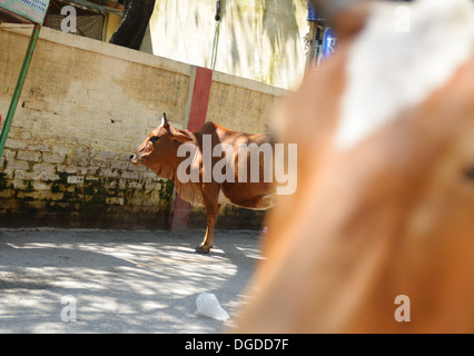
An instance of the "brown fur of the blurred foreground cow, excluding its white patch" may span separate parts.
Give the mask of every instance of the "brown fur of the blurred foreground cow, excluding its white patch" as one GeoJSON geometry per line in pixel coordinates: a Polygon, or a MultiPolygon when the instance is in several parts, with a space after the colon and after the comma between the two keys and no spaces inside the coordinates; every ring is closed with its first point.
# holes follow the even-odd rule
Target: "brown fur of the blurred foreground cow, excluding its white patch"
{"type": "Polygon", "coordinates": [[[348,38],[278,111],[298,191],[278,197],[239,333],[474,332],[474,58],[352,150],[334,149],[348,38]],[[397,295],[412,322],[397,323],[397,295]]]}

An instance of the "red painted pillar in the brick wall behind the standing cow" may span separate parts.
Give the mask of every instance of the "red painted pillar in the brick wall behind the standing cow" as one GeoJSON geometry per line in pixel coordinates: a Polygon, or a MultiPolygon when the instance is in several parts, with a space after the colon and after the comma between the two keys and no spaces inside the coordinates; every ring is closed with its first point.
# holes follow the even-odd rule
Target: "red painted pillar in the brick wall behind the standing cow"
{"type": "MultiPolygon", "coordinates": [[[[188,120],[188,130],[191,132],[198,132],[206,123],[211,82],[213,71],[207,68],[196,67],[196,79],[188,120]]],[[[190,211],[191,206],[177,195],[171,215],[171,231],[185,231],[188,228],[190,211]]]]}

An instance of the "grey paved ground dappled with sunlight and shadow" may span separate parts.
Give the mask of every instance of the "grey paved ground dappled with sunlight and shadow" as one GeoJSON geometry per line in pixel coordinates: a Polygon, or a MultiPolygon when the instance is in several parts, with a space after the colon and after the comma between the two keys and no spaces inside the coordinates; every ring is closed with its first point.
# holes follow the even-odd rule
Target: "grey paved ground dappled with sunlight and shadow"
{"type": "Polygon", "coordinates": [[[217,231],[208,256],[194,253],[203,233],[0,229],[0,333],[224,332],[260,258],[258,233],[217,231]],[[195,314],[204,291],[229,320],[195,314]],[[75,303],[77,322],[63,322],[75,303]]]}

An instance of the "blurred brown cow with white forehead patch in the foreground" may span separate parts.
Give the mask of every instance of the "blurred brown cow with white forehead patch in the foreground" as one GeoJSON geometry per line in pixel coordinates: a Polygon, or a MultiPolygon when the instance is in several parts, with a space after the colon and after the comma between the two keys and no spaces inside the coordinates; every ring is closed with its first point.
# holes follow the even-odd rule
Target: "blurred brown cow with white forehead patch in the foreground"
{"type": "Polygon", "coordinates": [[[298,191],[236,330],[474,333],[473,1],[339,3],[336,53],[277,110],[298,191]]]}

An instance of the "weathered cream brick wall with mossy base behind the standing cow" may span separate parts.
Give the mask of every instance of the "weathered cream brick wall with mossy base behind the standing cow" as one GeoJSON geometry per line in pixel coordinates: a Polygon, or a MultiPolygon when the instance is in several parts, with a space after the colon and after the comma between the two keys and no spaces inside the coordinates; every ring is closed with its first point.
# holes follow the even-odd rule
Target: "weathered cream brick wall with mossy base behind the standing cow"
{"type": "MultiPolygon", "coordinates": [[[[30,31],[0,26],[2,123],[30,31]]],[[[172,184],[128,157],[161,112],[187,126],[194,72],[189,65],[41,29],[0,158],[0,225],[166,227],[172,184]]],[[[268,109],[285,93],[223,73],[213,80],[208,120],[236,130],[264,131],[268,109]]]]}

